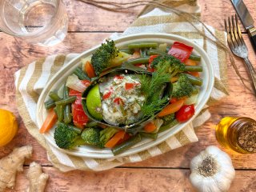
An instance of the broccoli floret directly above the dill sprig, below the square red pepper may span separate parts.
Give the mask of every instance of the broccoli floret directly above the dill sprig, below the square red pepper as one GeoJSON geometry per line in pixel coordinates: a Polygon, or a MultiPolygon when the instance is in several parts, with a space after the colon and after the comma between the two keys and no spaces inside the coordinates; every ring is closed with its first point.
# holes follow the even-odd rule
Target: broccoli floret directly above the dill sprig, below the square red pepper
{"type": "Polygon", "coordinates": [[[165,66],[166,64],[169,65],[168,70],[166,71],[170,74],[171,78],[174,77],[176,74],[185,71],[185,65],[178,58],[174,58],[174,56],[166,54],[162,56],[158,56],[154,58],[153,62],[151,62],[150,66],[154,69],[157,69],[157,66],[165,66]]]}

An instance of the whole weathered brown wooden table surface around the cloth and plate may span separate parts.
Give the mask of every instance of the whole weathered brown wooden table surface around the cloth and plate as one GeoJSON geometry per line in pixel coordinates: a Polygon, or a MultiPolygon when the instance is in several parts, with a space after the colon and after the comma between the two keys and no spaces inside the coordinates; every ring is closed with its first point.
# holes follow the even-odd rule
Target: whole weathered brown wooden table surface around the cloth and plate
{"type": "MultiPolygon", "coordinates": [[[[47,160],[46,150],[27,132],[15,103],[14,72],[38,58],[50,54],[80,53],[98,45],[102,39],[114,32],[122,33],[134,21],[142,7],[125,13],[113,13],[88,6],[82,2],[65,0],[70,23],[69,33],[64,42],[54,47],[31,46],[0,32],[0,108],[14,112],[19,122],[18,134],[10,144],[0,148],[0,158],[9,154],[14,146],[30,144],[33,157],[26,160],[24,172],[19,173],[14,190],[25,191],[28,186],[26,172],[30,162],[39,162],[44,172],[50,174],[46,191],[194,191],[189,181],[190,160],[206,146],[219,146],[214,127],[226,116],[245,116],[256,119],[254,94],[244,89],[242,83],[228,65],[230,95],[210,107],[210,120],[197,130],[199,142],[150,158],[144,162],[130,163],[99,173],[74,170],[62,173],[47,160]]],[[[121,1],[120,1],[121,2],[121,1]]],[[[122,0],[122,2],[130,2],[122,0]]],[[[200,0],[202,21],[223,30],[223,19],[234,14],[230,0],[200,0]]],[[[245,0],[246,6],[256,20],[254,0],[245,0]]],[[[256,67],[256,54],[250,46],[246,32],[243,32],[250,51],[250,60],[256,67]]],[[[242,60],[235,58],[243,77],[249,78],[242,60]]],[[[237,154],[225,150],[232,158],[236,176],[230,191],[256,190],[256,154],[237,154]]]]}

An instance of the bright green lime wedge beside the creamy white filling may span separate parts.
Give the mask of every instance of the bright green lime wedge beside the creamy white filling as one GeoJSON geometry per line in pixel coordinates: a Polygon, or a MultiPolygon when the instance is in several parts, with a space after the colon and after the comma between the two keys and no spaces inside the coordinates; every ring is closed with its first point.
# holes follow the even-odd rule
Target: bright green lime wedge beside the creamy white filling
{"type": "Polygon", "coordinates": [[[102,100],[99,93],[98,84],[95,85],[87,94],[86,107],[89,113],[98,120],[102,120],[102,100]]]}

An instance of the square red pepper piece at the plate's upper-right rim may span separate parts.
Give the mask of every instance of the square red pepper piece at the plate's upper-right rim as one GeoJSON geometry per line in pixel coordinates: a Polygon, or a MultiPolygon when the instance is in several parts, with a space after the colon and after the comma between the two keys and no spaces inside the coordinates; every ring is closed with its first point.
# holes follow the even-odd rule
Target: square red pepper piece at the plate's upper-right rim
{"type": "Polygon", "coordinates": [[[174,45],[171,46],[168,54],[178,58],[181,62],[185,62],[186,59],[190,57],[192,50],[192,46],[187,46],[182,42],[174,42],[174,45]]]}

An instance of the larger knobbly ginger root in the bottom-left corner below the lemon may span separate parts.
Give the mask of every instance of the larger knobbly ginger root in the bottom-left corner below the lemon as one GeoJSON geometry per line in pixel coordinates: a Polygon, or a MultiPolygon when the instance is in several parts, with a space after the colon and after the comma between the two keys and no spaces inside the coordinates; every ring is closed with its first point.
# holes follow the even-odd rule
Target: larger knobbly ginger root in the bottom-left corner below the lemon
{"type": "Polygon", "coordinates": [[[22,146],[0,159],[0,192],[14,188],[16,172],[23,170],[25,158],[32,155],[32,146],[22,146]]]}

